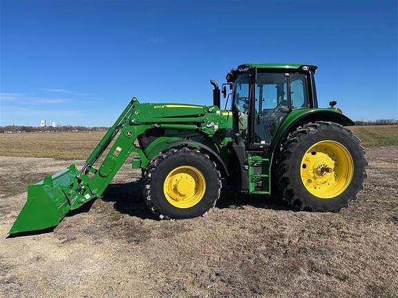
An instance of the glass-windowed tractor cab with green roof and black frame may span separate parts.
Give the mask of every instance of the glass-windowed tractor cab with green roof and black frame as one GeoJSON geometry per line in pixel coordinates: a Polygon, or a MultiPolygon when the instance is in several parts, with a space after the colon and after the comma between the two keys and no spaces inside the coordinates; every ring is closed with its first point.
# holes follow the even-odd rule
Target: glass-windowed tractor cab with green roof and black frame
{"type": "Polygon", "coordinates": [[[249,148],[269,147],[292,110],[318,107],[315,70],[301,64],[243,64],[227,74],[234,132],[249,148]]]}

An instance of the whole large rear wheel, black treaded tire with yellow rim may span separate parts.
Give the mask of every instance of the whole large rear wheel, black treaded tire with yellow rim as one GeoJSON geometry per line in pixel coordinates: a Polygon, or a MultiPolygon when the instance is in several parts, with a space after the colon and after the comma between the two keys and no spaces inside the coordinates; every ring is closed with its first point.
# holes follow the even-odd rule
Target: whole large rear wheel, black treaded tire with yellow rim
{"type": "Polygon", "coordinates": [[[283,199],[299,210],[338,212],[363,189],[368,162],[360,140],[334,122],[297,128],[283,142],[276,183],[283,199]]]}

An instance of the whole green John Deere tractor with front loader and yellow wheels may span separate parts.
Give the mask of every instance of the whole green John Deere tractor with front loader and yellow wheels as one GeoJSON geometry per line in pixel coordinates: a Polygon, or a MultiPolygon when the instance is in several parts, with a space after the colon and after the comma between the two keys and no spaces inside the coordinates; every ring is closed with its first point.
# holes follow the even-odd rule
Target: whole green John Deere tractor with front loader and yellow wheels
{"type": "Polygon", "coordinates": [[[211,81],[213,106],[134,97],[81,169],[71,165],[28,186],[9,233],[57,226],[70,210],[101,196],[132,154],[132,168],[142,169],[144,200],[160,219],[205,215],[222,183],[244,194],[280,192],[298,210],[338,212],[363,188],[367,162],[359,139],[344,127],[354,122],[336,102],[318,108],[315,71],[243,64],[221,90],[211,81]]]}

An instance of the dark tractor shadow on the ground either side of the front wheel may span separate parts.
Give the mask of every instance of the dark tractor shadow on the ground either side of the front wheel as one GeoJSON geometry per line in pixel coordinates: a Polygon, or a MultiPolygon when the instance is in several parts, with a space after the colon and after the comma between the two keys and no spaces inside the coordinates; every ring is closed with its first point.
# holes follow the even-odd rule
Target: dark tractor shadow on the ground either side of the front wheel
{"type": "MultiPolygon", "coordinates": [[[[156,219],[142,197],[143,187],[144,185],[140,180],[110,184],[104,192],[102,201],[114,202],[113,208],[122,214],[139,217],[140,219],[156,219]]],[[[294,210],[278,194],[272,196],[243,195],[231,186],[222,188],[216,208],[242,208],[243,206],[272,210],[294,210]]]]}

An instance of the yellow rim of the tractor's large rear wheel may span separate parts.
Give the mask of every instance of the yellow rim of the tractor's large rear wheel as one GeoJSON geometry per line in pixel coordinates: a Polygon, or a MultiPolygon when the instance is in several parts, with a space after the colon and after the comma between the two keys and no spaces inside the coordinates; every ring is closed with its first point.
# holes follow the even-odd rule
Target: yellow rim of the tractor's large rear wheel
{"type": "Polygon", "coordinates": [[[300,173],[308,192],[321,199],[331,199],[341,195],[350,185],[354,161],[341,143],[320,141],[305,152],[300,173]]]}

